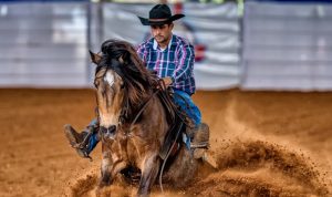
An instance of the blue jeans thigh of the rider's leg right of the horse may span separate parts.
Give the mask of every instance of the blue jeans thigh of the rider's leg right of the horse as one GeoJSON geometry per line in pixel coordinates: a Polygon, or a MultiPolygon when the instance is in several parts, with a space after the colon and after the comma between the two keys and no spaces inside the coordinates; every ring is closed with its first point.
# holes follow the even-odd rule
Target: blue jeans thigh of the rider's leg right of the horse
{"type": "Polygon", "coordinates": [[[194,104],[191,96],[184,91],[174,90],[174,102],[186,112],[186,114],[194,121],[197,127],[201,122],[201,114],[199,108],[194,104]]]}

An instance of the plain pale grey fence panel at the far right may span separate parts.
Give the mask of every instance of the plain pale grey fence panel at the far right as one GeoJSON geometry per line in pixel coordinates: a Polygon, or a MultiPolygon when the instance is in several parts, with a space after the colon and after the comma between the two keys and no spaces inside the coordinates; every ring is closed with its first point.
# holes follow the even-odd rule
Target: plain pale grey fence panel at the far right
{"type": "Polygon", "coordinates": [[[248,90],[332,90],[332,4],[248,2],[242,81],[248,90]]]}

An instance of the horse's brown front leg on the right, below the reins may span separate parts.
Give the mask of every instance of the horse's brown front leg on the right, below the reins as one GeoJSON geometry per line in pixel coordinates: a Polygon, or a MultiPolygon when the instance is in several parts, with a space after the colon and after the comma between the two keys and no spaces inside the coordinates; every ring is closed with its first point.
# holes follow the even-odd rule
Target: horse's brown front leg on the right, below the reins
{"type": "Polygon", "coordinates": [[[157,153],[148,154],[143,164],[142,177],[137,190],[137,197],[149,196],[151,188],[155,183],[160,166],[160,158],[157,153]]]}

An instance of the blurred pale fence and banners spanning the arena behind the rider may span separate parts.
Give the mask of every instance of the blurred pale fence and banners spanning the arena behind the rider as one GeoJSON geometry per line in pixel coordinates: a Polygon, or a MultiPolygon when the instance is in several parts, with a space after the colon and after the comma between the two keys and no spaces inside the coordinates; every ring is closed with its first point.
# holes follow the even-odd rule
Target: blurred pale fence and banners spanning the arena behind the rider
{"type": "MultiPolygon", "coordinates": [[[[0,86],[90,87],[89,50],[149,37],[136,15],[167,1],[0,0],[0,86]]],[[[332,90],[328,0],[168,1],[196,50],[198,90],[332,90]]]]}

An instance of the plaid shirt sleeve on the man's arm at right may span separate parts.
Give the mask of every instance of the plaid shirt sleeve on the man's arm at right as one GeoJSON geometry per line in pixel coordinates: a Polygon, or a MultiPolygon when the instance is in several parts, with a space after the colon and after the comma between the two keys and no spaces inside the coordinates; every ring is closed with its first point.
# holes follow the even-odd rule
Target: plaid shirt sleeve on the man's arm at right
{"type": "Polygon", "coordinates": [[[178,64],[172,76],[173,82],[189,77],[194,70],[195,52],[191,44],[183,45],[178,52],[178,64]]]}

